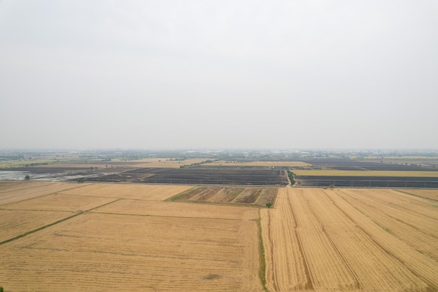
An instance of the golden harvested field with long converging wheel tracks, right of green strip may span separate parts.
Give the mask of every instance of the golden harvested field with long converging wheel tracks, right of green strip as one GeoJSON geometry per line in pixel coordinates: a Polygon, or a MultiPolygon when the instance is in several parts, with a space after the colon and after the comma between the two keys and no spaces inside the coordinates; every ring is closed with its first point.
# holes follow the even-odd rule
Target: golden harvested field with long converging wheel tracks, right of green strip
{"type": "Polygon", "coordinates": [[[262,209],[270,291],[438,291],[436,202],[393,190],[281,188],[262,209]]]}

